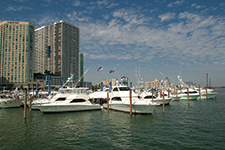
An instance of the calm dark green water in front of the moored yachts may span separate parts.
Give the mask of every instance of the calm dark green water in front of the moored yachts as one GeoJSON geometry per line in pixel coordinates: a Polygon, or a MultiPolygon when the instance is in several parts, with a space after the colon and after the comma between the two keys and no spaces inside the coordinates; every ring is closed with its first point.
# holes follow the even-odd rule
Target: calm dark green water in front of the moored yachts
{"type": "Polygon", "coordinates": [[[217,99],[173,101],[152,115],[117,111],[58,114],[0,109],[4,149],[225,149],[225,89],[217,99]]]}

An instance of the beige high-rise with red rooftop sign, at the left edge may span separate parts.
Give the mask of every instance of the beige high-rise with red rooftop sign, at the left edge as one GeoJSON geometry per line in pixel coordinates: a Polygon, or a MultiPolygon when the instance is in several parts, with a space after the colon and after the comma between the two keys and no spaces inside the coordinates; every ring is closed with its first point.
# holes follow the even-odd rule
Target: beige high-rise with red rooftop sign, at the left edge
{"type": "Polygon", "coordinates": [[[35,25],[0,21],[0,82],[33,82],[35,25]]]}

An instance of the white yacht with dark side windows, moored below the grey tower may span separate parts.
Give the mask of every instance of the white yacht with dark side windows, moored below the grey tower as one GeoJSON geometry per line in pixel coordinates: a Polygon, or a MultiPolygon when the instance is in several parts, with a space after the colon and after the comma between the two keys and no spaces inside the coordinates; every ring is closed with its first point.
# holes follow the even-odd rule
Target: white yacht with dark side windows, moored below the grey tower
{"type": "Polygon", "coordinates": [[[63,88],[53,96],[49,103],[42,103],[36,108],[43,113],[100,110],[99,104],[92,104],[84,93],[87,88],[63,88]]]}

